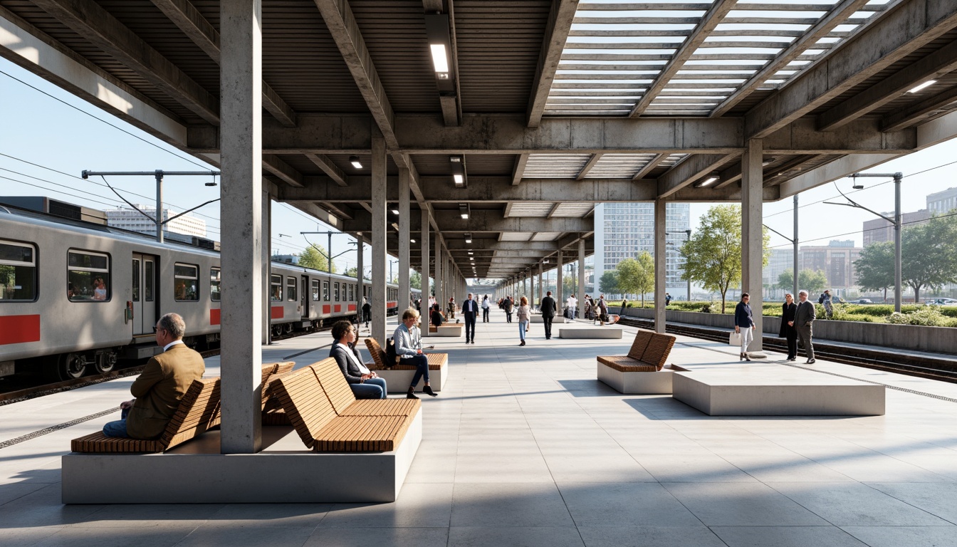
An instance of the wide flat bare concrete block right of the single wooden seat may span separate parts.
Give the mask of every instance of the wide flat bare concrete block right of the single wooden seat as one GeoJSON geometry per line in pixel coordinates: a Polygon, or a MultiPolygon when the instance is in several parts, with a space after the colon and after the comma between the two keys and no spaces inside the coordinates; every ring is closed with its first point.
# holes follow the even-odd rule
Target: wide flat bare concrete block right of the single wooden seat
{"type": "Polygon", "coordinates": [[[675,399],[708,416],[882,416],[884,386],[784,367],[676,373],[675,399]]]}

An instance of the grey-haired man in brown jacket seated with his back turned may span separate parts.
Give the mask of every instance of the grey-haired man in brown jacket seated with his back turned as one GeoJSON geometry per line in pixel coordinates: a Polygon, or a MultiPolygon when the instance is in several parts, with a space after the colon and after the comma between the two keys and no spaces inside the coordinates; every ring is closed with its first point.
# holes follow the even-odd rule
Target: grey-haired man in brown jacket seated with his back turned
{"type": "Polygon", "coordinates": [[[203,357],[183,344],[186,323],[167,313],[156,324],[156,344],[163,353],[146,363],[130,391],[136,399],[120,404],[121,420],[103,425],[103,435],[130,439],[158,439],[176,413],[192,380],[203,377],[203,357]]]}

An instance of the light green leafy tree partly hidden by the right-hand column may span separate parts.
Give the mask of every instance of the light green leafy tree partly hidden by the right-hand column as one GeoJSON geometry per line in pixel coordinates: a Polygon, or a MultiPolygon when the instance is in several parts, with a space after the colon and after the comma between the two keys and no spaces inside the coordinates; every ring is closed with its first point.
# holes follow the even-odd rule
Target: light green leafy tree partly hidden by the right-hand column
{"type": "MultiPolygon", "coordinates": [[[[707,290],[721,293],[724,312],[727,289],[741,283],[741,206],[717,205],[701,217],[701,227],[680,249],[685,261],[681,279],[698,282],[707,290]]],[[[770,250],[768,230],[764,230],[764,260],[770,250]]]]}

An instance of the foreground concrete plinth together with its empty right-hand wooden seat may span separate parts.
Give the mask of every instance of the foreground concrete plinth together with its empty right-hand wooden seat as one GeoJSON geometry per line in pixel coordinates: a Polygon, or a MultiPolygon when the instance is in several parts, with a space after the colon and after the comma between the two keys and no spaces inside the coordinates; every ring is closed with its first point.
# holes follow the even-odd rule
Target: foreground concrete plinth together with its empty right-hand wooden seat
{"type": "Polygon", "coordinates": [[[163,454],[68,454],[63,503],[398,498],[422,441],[420,400],[356,400],[333,358],[270,376],[269,386],[292,427],[264,426],[262,451],[222,454],[220,432],[211,431],[163,454]]]}

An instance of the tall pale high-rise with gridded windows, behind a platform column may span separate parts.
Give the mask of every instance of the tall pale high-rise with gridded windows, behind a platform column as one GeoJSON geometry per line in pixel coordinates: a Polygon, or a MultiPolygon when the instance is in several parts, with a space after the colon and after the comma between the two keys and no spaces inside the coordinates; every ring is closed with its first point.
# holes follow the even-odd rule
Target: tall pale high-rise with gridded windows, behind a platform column
{"type": "MultiPolygon", "coordinates": [[[[654,203],[599,203],[595,206],[595,291],[602,275],[613,270],[618,262],[637,258],[642,251],[655,254],[654,203]]],[[[681,243],[691,227],[691,206],[687,203],[665,205],[665,290],[676,299],[687,298],[684,259],[679,254],[681,243]]]]}

